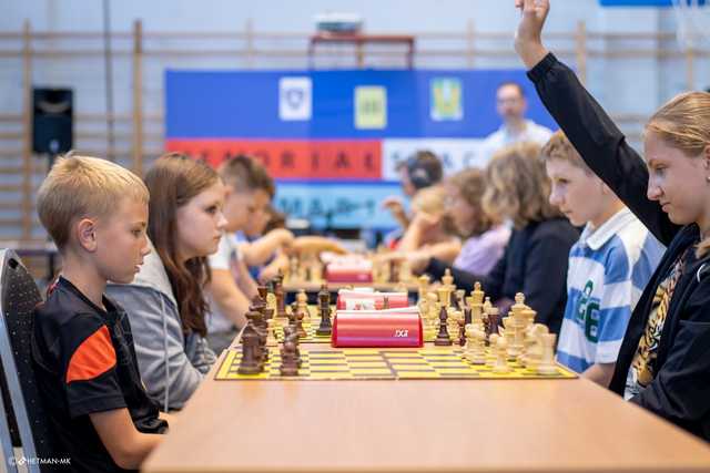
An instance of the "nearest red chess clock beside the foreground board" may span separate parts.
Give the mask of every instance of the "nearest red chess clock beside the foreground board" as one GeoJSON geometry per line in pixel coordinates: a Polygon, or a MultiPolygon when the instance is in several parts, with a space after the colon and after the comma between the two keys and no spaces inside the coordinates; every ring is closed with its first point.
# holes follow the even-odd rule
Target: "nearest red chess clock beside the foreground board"
{"type": "Polygon", "coordinates": [[[390,310],[337,310],[333,347],[422,347],[422,319],[416,307],[390,310]]]}

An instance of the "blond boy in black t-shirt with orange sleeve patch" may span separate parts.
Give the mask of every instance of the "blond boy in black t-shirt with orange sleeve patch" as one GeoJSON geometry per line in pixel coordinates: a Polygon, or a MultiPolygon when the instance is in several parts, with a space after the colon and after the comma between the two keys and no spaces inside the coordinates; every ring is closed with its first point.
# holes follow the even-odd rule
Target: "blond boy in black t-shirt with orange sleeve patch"
{"type": "Polygon", "coordinates": [[[149,193],[123,167],[59,158],[38,194],[62,275],[34,313],[32,361],[58,456],[75,471],[135,470],[168,429],[141,382],[125,312],[104,296],[149,253],[149,193]]]}

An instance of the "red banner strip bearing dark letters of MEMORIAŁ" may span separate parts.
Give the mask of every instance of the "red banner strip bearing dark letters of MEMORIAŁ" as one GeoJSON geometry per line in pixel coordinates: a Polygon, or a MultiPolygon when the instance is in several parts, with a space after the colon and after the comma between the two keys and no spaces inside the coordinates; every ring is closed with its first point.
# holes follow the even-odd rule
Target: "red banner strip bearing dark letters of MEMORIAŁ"
{"type": "Polygon", "coordinates": [[[382,179],[379,141],[168,140],[165,148],[204,158],[213,166],[248,154],[277,179],[382,179]]]}

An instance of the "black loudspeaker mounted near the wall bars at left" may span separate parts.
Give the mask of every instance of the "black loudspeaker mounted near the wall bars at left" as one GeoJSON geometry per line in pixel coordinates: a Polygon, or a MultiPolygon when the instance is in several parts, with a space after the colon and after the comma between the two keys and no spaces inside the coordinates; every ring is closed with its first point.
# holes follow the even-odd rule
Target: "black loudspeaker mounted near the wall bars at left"
{"type": "Polygon", "coordinates": [[[32,151],[57,155],[73,147],[74,93],[71,89],[32,91],[32,151]]]}

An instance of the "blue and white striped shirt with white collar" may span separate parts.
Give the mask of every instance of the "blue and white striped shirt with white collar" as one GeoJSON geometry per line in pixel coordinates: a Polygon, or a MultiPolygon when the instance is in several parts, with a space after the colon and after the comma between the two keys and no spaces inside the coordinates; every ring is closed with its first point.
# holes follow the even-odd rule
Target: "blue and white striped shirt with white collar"
{"type": "Polygon", "coordinates": [[[631,311],[665,249],[627,208],[596,230],[587,224],[569,251],[560,363],[582,372],[617,361],[631,311]]]}

